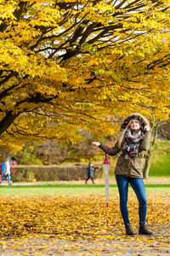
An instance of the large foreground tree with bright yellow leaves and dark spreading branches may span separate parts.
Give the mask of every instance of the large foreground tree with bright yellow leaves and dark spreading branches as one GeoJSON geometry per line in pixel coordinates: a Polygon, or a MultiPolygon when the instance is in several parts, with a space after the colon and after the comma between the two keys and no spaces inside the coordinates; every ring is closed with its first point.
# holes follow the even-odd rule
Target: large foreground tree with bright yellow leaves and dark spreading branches
{"type": "Polygon", "coordinates": [[[167,119],[169,6],[1,0],[1,140],[75,142],[80,126],[113,134],[119,116],[137,111],[167,119]]]}

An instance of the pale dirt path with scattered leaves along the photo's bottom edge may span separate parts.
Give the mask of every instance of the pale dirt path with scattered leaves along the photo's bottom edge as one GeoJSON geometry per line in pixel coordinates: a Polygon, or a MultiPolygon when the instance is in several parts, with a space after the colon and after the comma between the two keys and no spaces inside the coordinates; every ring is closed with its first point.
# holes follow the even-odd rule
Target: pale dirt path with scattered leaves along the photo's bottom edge
{"type": "Polygon", "coordinates": [[[99,234],[95,240],[69,241],[54,234],[37,237],[4,237],[0,241],[1,256],[12,255],[115,255],[115,256],[167,256],[170,255],[170,226],[150,226],[153,236],[125,236],[124,230],[99,234]],[[108,236],[109,235],[109,236],[108,236]],[[108,238],[109,237],[109,238],[108,238]]]}

